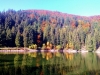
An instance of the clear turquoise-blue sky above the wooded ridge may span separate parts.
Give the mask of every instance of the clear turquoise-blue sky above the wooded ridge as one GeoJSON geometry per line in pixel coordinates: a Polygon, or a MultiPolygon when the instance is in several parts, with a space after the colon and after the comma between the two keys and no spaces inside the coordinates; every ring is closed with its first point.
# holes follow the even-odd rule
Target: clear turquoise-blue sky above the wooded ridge
{"type": "Polygon", "coordinates": [[[100,15],[100,0],[0,0],[0,11],[51,10],[62,13],[93,16],[100,15]]]}

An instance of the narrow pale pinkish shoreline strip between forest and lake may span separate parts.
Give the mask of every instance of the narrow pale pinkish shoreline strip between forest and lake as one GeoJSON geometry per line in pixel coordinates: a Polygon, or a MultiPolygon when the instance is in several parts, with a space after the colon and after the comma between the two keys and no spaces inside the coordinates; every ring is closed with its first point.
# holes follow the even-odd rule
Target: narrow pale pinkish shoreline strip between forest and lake
{"type": "Polygon", "coordinates": [[[0,53],[31,53],[31,52],[66,52],[66,53],[100,53],[100,51],[88,51],[88,50],[35,50],[35,49],[29,49],[29,48],[0,48],[0,53]]]}

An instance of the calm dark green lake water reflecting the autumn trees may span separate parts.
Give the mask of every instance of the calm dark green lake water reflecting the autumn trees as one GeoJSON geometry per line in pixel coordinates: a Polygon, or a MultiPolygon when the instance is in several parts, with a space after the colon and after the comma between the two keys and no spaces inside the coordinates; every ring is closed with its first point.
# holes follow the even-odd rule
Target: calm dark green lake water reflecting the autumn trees
{"type": "Polygon", "coordinates": [[[0,54],[0,75],[100,75],[100,54],[0,54]]]}

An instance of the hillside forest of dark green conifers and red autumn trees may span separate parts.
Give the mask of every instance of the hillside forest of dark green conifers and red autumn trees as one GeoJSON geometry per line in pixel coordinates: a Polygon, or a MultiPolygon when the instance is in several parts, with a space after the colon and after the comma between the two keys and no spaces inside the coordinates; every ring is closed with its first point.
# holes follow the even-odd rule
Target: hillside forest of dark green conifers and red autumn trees
{"type": "Polygon", "coordinates": [[[100,46],[100,16],[77,16],[48,10],[0,12],[0,47],[42,47],[96,50],[100,46]]]}

